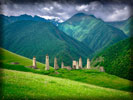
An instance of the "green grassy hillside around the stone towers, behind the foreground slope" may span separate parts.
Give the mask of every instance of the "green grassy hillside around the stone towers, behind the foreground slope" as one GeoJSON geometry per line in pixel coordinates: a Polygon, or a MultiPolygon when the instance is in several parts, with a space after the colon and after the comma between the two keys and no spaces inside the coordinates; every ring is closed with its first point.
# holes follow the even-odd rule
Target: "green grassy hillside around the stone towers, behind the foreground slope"
{"type": "Polygon", "coordinates": [[[132,91],[131,81],[119,78],[114,75],[110,75],[104,72],[99,72],[98,70],[66,70],[59,69],[53,70],[51,67],[49,71],[44,70],[44,64],[37,62],[37,67],[39,69],[31,69],[25,66],[31,66],[32,60],[11,53],[7,50],[0,49],[0,62],[3,64],[4,69],[24,71],[38,73],[42,75],[49,75],[53,77],[60,77],[65,79],[70,79],[78,82],[83,82],[87,84],[97,85],[106,88],[113,88],[124,91],[132,91]],[[19,62],[18,65],[12,65],[11,62],[19,62]]]}

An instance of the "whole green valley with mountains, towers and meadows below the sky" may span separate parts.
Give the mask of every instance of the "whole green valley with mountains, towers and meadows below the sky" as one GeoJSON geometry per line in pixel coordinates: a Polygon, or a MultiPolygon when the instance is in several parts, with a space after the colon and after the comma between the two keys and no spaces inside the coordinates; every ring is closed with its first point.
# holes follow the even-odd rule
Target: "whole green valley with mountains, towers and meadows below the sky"
{"type": "Polygon", "coordinates": [[[130,23],[0,15],[0,99],[132,100],[130,23]]]}

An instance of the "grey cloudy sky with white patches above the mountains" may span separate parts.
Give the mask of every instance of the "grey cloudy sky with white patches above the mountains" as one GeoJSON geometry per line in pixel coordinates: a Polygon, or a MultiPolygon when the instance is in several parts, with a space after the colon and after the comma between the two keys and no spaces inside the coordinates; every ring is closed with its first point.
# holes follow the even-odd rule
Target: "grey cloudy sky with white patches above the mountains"
{"type": "Polygon", "coordinates": [[[56,0],[49,2],[18,3],[8,0],[7,2],[1,2],[1,10],[1,13],[7,16],[19,16],[22,14],[37,15],[45,19],[56,19],[59,22],[63,22],[80,12],[94,15],[104,21],[126,20],[132,15],[129,4],[102,3],[94,0],[87,3],[70,3],[67,1],[62,3],[56,0]]]}

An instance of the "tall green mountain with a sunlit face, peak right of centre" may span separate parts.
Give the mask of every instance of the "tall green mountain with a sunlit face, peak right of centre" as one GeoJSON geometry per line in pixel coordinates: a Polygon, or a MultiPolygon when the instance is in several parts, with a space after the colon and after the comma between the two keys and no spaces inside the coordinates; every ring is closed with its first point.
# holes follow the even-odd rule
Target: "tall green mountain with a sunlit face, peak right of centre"
{"type": "Polygon", "coordinates": [[[94,51],[127,37],[121,30],[106,24],[93,15],[84,13],[75,14],[59,24],[58,28],[69,36],[86,43],[94,51]]]}

